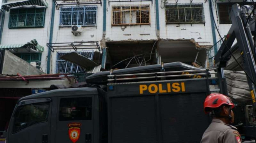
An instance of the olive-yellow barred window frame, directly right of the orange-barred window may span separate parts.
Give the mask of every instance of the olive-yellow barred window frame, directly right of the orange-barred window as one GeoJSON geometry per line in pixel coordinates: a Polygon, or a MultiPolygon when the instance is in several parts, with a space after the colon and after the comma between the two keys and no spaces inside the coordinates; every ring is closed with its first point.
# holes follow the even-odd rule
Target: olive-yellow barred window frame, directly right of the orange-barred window
{"type": "MultiPolygon", "coordinates": [[[[166,4],[166,6],[165,6],[165,17],[166,17],[166,24],[197,24],[197,23],[205,23],[205,16],[204,16],[204,3],[170,3],[170,4],[166,4]],[[167,9],[172,9],[172,8],[166,8],[166,6],[168,6],[168,5],[181,5],[182,6],[182,8],[185,8],[185,9],[192,9],[192,8],[200,8],[200,7],[191,7],[191,5],[201,5],[202,7],[201,7],[201,17],[202,17],[202,21],[188,21],[188,22],[180,22],[181,20],[179,20],[178,22],[168,22],[168,20],[167,20],[167,9]],[[184,5],[189,5],[190,7],[183,7],[184,5]]],[[[182,9],[182,8],[179,8],[179,7],[177,7],[177,8],[173,8],[173,9],[175,9],[175,11],[178,11],[178,13],[179,13],[179,9],[182,9]]],[[[190,15],[191,15],[191,17],[193,16],[192,15],[192,12],[190,13],[190,15]]],[[[178,18],[179,18],[179,14],[178,14],[178,18]]],[[[185,10],[184,10],[184,19],[186,20],[186,14],[185,14],[185,10]]],[[[192,18],[191,18],[191,20],[192,20],[192,18]]]]}

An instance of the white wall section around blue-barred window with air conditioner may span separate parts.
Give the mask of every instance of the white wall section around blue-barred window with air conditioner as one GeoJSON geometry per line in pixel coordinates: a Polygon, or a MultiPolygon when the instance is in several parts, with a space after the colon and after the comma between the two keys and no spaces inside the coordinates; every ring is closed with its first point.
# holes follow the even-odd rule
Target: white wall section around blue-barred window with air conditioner
{"type": "MultiPolygon", "coordinates": [[[[60,3],[61,1],[58,1],[60,3]]],[[[103,5],[100,6],[100,4],[90,4],[89,6],[97,5],[97,23],[96,26],[86,26],[83,27],[83,31],[80,36],[74,36],[74,34],[71,33],[71,26],[70,27],[61,27],[60,26],[60,9],[55,9],[55,17],[54,17],[54,30],[53,30],[53,39],[52,43],[62,43],[62,42],[80,42],[80,41],[97,41],[100,44],[100,41],[102,39],[103,34],[103,5]]],[[[63,5],[63,6],[76,6],[76,5],[63,5]]],[[[83,6],[83,5],[81,5],[83,6]]],[[[90,44],[90,43],[89,43],[90,44]]],[[[53,44],[56,45],[56,44],[53,44]]],[[[65,44],[64,44],[65,45],[65,44]]],[[[68,45],[68,44],[66,44],[68,45]]],[[[54,47],[56,48],[56,47],[54,47]]],[[[65,48],[65,47],[59,47],[59,48],[65,48]]],[[[56,59],[57,59],[57,52],[75,52],[72,47],[68,47],[67,50],[59,50],[56,49],[51,54],[51,66],[50,66],[50,73],[56,72],[56,59]],[[71,49],[70,49],[71,48],[71,49]]],[[[92,48],[95,48],[95,46],[92,46],[92,48]]],[[[97,49],[90,49],[90,46],[88,49],[80,49],[78,51],[82,50],[95,50],[99,51],[97,49]]]]}

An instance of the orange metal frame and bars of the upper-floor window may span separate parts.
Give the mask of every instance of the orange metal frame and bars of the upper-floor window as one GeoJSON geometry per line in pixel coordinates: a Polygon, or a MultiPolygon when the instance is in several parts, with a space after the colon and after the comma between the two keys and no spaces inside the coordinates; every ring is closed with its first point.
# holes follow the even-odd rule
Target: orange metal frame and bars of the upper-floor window
{"type": "MultiPolygon", "coordinates": [[[[128,9],[126,9],[128,10],[128,9]]],[[[131,18],[131,17],[130,17],[131,18]]],[[[132,18],[131,18],[131,21],[132,21],[132,18]]],[[[137,15],[136,15],[136,21],[137,21],[137,15]]],[[[112,6],[112,15],[111,15],[111,25],[112,26],[122,26],[122,25],[150,25],[151,24],[151,15],[150,15],[150,5],[113,5],[112,6]],[[136,6],[139,6],[139,13],[140,13],[140,17],[139,17],[139,20],[140,20],[140,23],[122,23],[122,8],[123,7],[128,7],[130,6],[130,16],[132,16],[132,6],[136,7],[136,6]],[[141,8],[141,6],[148,6],[148,8],[141,8]],[[120,7],[120,9],[114,9],[115,7],[120,7]],[[114,11],[120,11],[120,24],[115,24],[114,23],[114,11]],[[142,11],[147,11],[149,14],[148,14],[148,23],[142,23],[142,11]]]]}

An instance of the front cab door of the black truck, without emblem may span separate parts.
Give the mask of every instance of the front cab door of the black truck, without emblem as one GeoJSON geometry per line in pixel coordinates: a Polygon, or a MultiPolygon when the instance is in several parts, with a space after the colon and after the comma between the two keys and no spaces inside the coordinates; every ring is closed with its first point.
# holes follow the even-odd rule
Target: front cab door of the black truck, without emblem
{"type": "Polygon", "coordinates": [[[51,100],[18,102],[8,128],[7,143],[49,143],[51,100]]]}

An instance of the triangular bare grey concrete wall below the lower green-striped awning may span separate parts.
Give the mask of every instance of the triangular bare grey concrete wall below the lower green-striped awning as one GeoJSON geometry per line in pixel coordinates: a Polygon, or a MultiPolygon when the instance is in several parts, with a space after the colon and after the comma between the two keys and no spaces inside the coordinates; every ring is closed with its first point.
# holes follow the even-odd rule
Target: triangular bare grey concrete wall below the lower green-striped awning
{"type": "Polygon", "coordinates": [[[2,75],[17,75],[17,73],[22,76],[45,74],[25,60],[22,60],[11,52],[5,50],[2,75]]]}

